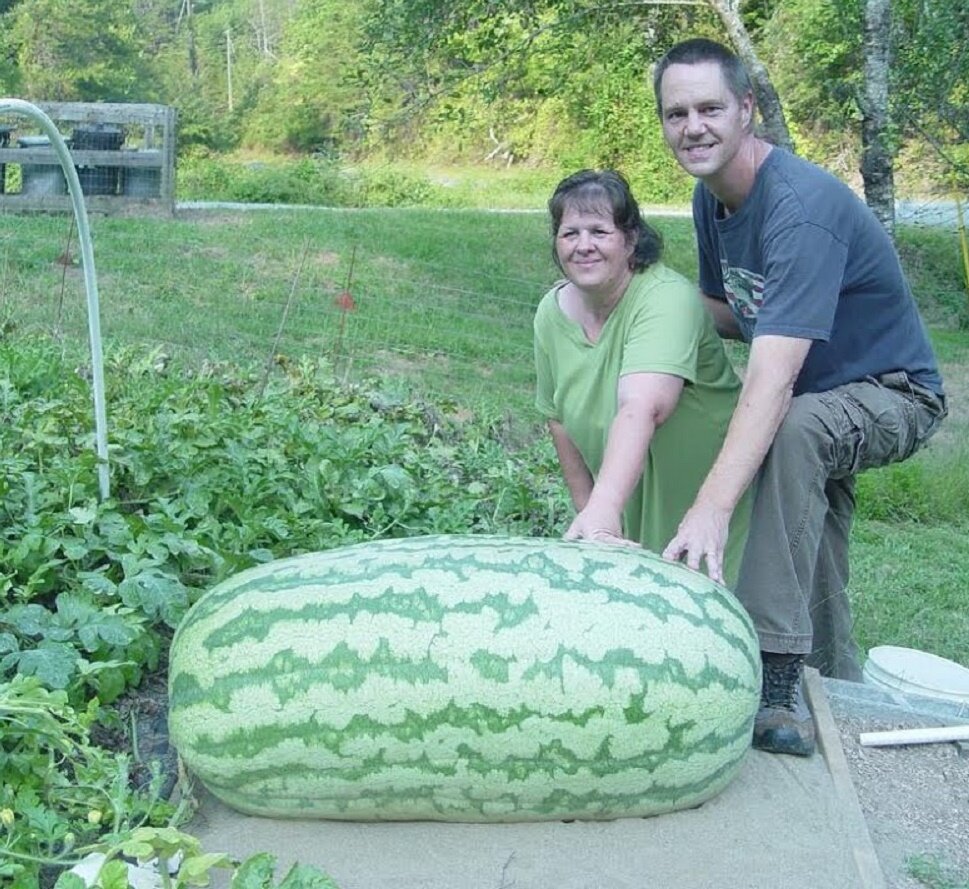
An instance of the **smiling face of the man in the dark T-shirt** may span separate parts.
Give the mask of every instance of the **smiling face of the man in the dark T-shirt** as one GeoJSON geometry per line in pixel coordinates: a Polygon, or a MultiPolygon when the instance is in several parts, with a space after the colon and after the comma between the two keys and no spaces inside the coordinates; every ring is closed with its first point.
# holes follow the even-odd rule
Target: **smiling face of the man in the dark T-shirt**
{"type": "Polygon", "coordinates": [[[660,97],[663,135],[680,166],[699,179],[729,176],[750,126],[753,97],[738,100],[716,62],[670,65],[660,97]]]}

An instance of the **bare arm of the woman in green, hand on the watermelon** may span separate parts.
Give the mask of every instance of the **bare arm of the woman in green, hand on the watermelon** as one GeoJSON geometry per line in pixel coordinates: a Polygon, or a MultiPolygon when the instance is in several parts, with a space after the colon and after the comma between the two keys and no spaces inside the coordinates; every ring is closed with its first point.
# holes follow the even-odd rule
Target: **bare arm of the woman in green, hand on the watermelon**
{"type": "Polygon", "coordinates": [[[623,539],[622,513],[643,474],[649,443],[673,413],[682,391],[683,378],[672,374],[632,373],[619,378],[616,416],[602,466],[566,539],[623,539]]]}

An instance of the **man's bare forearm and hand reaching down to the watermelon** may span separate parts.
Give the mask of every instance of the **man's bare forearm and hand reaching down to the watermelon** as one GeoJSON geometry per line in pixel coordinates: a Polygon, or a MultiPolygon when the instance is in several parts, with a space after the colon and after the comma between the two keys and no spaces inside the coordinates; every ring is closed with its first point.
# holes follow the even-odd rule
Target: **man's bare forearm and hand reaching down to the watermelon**
{"type": "Polygon", "coordinates": [[[730,517],[753,481],[791,404],[794,382],[812,340],[785,336],[756,337],[750,347],[740,401],[734,410],[720,454],[663,550],[667,559],[683,559],[723,583],[723,553],[730,517]]]}

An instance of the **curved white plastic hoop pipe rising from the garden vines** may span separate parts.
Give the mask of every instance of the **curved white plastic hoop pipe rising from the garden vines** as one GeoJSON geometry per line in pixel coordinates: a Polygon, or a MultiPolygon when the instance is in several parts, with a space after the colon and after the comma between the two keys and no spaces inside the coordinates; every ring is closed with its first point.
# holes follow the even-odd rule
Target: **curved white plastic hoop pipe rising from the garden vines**
{"type": "Polygon", "coordinates": [[[81,181],[74,168],[74,159],[53,121],[36,105],[23,99],[0,99],[0,113],[14,112],[30,117],[40,124],[50,137],[50,144],[60,159],[67,188],[74,205],[77,222],[77,239],[81,245],[81,263],[84,268],[84,289],[87,293],[88,337],[91,341],[91,381],[94,387],[94,429],[98,455],[98,489],[101,500],[110,494],[108,470],[108,421],[104,406],[104,363],[101,358],[101,314],[98,307],[98,281],[94,271],[94,249],[91,246],[91,228],[88,225],[87,208],[81,192],[81,181]]]}

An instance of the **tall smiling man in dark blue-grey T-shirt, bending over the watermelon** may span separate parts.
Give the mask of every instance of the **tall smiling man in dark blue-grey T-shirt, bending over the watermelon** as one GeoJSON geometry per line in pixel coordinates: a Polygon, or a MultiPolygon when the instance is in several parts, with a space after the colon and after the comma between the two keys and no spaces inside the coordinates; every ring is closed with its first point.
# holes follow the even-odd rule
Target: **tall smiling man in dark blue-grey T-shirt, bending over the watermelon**
{"type": "Polygon", "coordinates": [[[887,233],[843,183],[757,137],[740,60],[688,40],[653,86],[666,142],[698,180],[704,300],[721,336],[750,343],[727,437],[663,555],[722,582],[727,523],[756,480],[736,586],[764,664],[754,746],[810,755],[806,659],[860,678],[845,594],[855,476],[929,438],[942,380],[887,233]]]}

